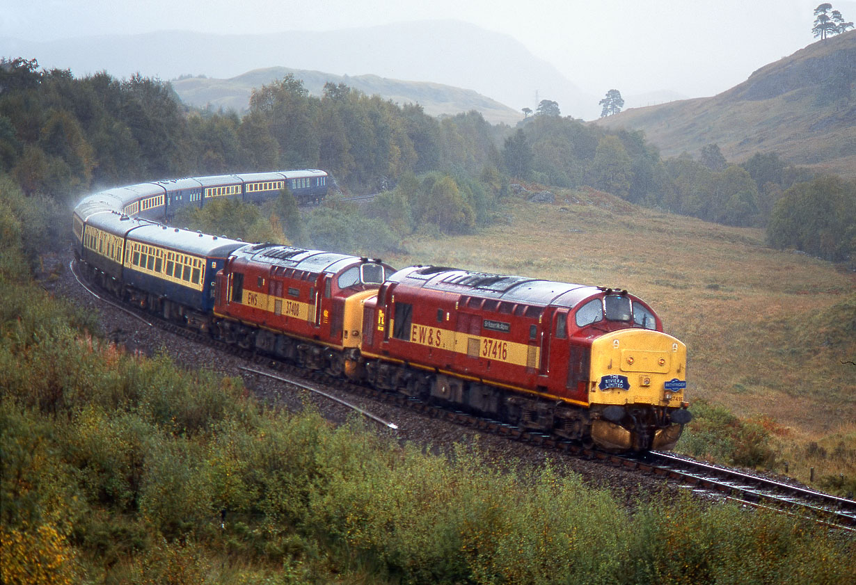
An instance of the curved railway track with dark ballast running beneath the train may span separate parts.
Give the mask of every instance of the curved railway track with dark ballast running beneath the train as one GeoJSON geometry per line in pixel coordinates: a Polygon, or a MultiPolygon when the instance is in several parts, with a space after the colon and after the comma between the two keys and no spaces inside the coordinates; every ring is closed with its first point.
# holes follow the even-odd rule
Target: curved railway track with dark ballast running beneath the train
{"type": "Polygon", "coordinates": [[[334,400],[359,412],[362,416],[382,424],[393,432],[398,429],[395,423],[383,420],[369,411],[324,392],[316,385],[333,387],[336,390],[351,395],[407,408],[425,417],[442,418],[451,423],[476,428],[483,433],[496,434],[507,437],[509,440],[519,440],[552,452],[568,453],[576,457],[614,465],[624,470],[660,477],[663,480],[673,482],[674,485],[693,489],[693,492],[706,494],[713,499],[729,499],[741,505],[782,511],[794,514],[795,516],[811,518],[818,523],[829,525],[830,528],[856,532],[856,501],[852,499],[839,498],[827,493],[748,474],[745,471],[706,464],[691,458],[664,452],[647,452],[639,456],[603,452],[579,442],[530,432],[505,423],[476,417],[463,411],[449,411],[439,405],[413,399],[402,394],[386,393],[372,387],[360,386],[342,378],[327,375],[324,372],[276,361],[256,352],[243,350],[223,341],[213,340],[207,335],[200,334],[188,328],[182,328],[175,325],[175,323],[166,322],[158,316],[154,316],[136,307],[116,303],[108,298],[108,293],[102,293],[94,285],[84,281],[77,274],[74,263],[69,268],[72,274],[74,274],[75,279],[80,283],[80,286],[84,287],[88,293],[134,316],[134,318],[147,325],[161,328],[187,340],[212,346],[222,352],[229,352],[245,360],[247,363],[253,363],[259,368],[264,368],[241,366],[240,369],[244,372],[244,375],[264,376],[276,379],[292,387],[300,387],[318,393],[326,399],[334,400]],[[283,374],[290,377],[282,377],[283,374]],[[294,380],[294,377],[299,377],[300,381],[294,380]]]}

